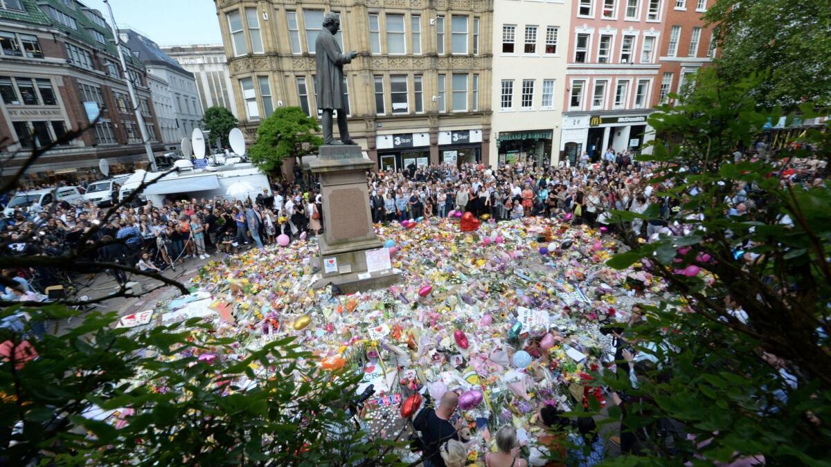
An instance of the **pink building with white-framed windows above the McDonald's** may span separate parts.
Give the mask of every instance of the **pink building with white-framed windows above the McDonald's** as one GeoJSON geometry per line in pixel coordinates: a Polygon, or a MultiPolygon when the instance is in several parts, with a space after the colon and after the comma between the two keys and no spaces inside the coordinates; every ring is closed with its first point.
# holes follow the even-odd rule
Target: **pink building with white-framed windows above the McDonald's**
{"type": "Polygon", "coordinates": [[[666,2],[570,0],[568,65],[560,150],[570,160],[651,140],[647,116],[661,68],[666,2]]]}

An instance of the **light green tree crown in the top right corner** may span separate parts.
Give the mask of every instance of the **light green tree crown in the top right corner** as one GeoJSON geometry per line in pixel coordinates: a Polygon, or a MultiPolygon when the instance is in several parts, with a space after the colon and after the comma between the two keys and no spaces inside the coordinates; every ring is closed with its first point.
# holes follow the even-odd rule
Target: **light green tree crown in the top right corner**
{"type": "Polygon", "coordinates": [[[765,107],[831,103],[831,7],[827,0],[719,0],[715,24],[722,79],[765,72],[755,96],[765,107]]]}

